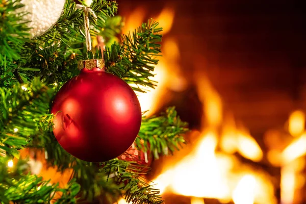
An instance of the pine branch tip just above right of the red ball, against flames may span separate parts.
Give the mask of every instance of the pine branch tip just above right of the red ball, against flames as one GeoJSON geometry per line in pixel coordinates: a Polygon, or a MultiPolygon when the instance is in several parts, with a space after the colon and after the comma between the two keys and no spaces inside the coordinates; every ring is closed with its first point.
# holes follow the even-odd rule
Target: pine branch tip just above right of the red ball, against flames
{"type": "Polygon", "coordinates": [[[122,45],[114,43],[105,52],[107,71],[121,77],[129,84],[135,84],[135,91],[145,92],[138,85],[154,88],[154,65],[157,65],[161,52],[162,28],[154,20],[148,20],[132,34],[122,35],[122,45]]]}

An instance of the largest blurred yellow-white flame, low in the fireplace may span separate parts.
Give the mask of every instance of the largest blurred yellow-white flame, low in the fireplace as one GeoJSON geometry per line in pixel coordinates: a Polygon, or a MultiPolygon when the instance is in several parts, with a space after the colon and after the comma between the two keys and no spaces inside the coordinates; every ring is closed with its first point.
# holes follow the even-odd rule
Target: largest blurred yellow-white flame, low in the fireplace
{"type": "MultiPolygon", "coordinates": [[[[207,80],[201,78],[203,79],[207,80]]],[[[215,113],[222,114],[219,96],[208,87],[205,87],[206,94],[214,97],[211,97],[209,105],[205,108],[214,107],[215,113]]],[[[205,108],[204,110],[207,110],[205,108]]],[[[222,123],[222,116],[216,117],[211,112],[205,113],[206,117],[211,115],[212,118],[203,118],[207,125],[200,134],[201,139],[197,146],[176,164],[164,164],[162,174],[154,180],[157,188],[161,189],[162,194],[172,192],[192,196],[192,199],[216,198],[224,203],[234,200],[236,204],[276,203],[274,187],[266,173],[243,164],[233,155],[224,153],[233,154],[237,151],[242,157],[259,162],[263,158],[263,152],[256,140],[246,130],[237,130],[234,125],[230,126],[235,124],[230,121],[230,124],[224,125],[221,135],[221,144],[223,144],[220,146],[221,149],[222,146],[226,149],[229,145],[231,149],[226,149],[224,152],[217,150],[220,143],[217,126],[222,123]]]]}

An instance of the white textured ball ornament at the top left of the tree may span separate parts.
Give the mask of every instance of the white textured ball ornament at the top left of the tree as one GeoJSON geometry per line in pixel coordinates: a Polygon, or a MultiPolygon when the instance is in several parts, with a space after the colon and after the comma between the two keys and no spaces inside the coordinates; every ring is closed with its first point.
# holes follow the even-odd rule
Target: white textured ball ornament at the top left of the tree
{"type": "Polygon", "coordinates": [[[49,30],[60,18],[64,9],[65,0],[21,0],[24,7],[17,9],[19,12],[29,12],[23,17],[29,21],[30,37],[38,37],[49,30]]]}

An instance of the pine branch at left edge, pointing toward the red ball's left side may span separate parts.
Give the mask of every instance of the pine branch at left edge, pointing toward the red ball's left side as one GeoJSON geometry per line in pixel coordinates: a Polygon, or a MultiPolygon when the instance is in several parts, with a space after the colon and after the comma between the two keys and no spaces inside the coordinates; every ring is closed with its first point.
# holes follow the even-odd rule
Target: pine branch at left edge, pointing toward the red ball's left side
{"type": "Polygon", "coordinates": [[[16,83],[11,89],[0,88],[0,149],[18,157],[17,149],[37,134],[37,124],[47,113],[52,94],[39,79],[28,86],[16,83]]]}

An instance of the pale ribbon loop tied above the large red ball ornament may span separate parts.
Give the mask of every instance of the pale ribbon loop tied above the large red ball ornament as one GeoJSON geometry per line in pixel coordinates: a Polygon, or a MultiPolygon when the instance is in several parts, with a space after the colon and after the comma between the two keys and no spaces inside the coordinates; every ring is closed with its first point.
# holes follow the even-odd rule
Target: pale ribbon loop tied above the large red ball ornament
{"type": "MultiPolygon", "coordinates": [[[[86,48],[87,48],[87,52],[91,51],[91,37],[90,37],[90,22],[89,22],[89,14],[91,14],[94,19],[97,19],[96,14],[94,13],[94,11],[84,5],[81,4],[77,4],[77,9],[82,9],[84,10],[84,29],[85,29],[85,38],[86,38],[86,48]]],[[[92,51],[91,51],[92,52],[92,51]]],[[[92,52],[93,57],[94,57],[94,53],[92,52]]],[[[87,58],[88,58],[88,54],[86,53],[87,58]]]]}

